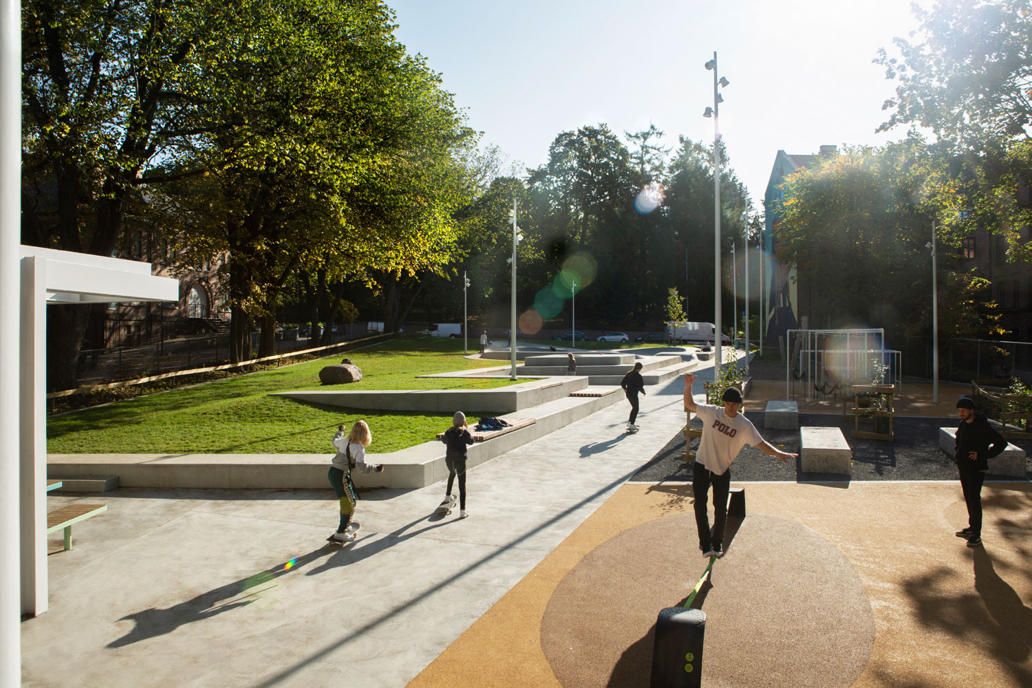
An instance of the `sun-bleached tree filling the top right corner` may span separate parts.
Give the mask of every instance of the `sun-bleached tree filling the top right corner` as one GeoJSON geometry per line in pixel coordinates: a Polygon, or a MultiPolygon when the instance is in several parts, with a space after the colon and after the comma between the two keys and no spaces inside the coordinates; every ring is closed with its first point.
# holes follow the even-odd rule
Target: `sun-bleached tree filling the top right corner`
{"type": "Polygon", "coordinates": [[[1032,260],[1019,232],[1032,222],[1032,9],[1027,0],[939,0],[913,11],[924,42],[897,38],[900,57],[882,48],[875,59],[898,83],[878,130],[931,129],[955,156],[940,188],[942,223],[1003,233],[1010,260],[1032,260]]]}

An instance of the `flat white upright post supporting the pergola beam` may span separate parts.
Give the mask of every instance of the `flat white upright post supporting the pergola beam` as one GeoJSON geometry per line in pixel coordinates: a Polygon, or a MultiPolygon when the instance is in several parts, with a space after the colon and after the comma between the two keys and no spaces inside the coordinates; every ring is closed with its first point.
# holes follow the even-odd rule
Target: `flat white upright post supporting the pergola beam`
{"type": "Polygon", "coordinates": [[[22,259],[22,614],[46,611],[46,261],[22,259]]]}

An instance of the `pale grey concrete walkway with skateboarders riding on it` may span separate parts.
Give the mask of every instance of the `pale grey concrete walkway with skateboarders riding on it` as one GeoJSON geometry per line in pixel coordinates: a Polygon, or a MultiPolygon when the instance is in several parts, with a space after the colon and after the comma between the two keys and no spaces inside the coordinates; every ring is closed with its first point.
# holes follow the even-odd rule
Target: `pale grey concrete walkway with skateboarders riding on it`
{"type": "Polygon", "coordinates": [[[471,469],[465,520],[431,515],[440,483],[370,492],[343,550],[329,490],[51,496],[108,512],[51,549],[25,685],[400,688],[667,444],[682,390],[649,388],[637,434],[618,403],[471,469]]]}

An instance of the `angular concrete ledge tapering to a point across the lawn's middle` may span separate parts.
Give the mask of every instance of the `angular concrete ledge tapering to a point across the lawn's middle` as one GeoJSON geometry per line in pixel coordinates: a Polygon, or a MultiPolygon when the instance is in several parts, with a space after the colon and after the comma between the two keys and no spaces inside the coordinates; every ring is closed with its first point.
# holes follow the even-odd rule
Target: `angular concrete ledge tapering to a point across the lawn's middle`
{"type": "Polygon", "coordinates": [[[570,396],[571,392],[587,386],[587,378],[567,375],[487,390],[310,390],[276,392],[269,396],[285,396],[309,403],[349,408],[430,411],[442,414],[461,409],[499,416],[562,399],[570,396]]]}

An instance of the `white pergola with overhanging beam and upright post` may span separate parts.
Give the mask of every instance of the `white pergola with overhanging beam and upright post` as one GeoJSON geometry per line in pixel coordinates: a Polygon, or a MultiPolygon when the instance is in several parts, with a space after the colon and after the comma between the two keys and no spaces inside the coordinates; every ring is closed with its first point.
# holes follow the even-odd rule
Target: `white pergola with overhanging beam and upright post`
{"type": "Polygon", "coordinates": [[[180,283],[151,274],[151,264],[21,248],[19,384],[22,614],[46,611],[46,306],[178,301],[180,283]]]}

